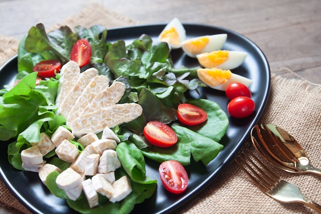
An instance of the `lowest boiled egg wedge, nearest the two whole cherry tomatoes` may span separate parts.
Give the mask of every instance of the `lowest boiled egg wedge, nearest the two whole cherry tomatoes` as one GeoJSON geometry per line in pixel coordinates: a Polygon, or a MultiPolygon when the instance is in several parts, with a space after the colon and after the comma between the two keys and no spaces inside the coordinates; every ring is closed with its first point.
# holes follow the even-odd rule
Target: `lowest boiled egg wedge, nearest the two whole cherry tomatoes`
{"type": "Polygon", "coordinates": [[[221,91],[225,91],[231,83],[242,83],[247,87],[253,83],[252,80],[244,76],[219,68],[198,68],[197,76],[207,86],[221,91]]]}

